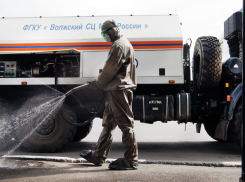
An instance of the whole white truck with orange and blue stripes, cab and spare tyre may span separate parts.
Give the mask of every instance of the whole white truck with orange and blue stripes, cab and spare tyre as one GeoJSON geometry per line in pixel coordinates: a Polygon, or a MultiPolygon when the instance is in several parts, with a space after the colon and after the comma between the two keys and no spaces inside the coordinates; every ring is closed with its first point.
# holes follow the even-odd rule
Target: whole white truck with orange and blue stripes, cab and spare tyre
{"type": "MultiPolygon", "coordinates": [[[[235,13],[225,23],[231,58],[223,60],[223,64],[217,38],[197,39],[192,60],[193,80],[190,45],[183,44],[177,15],[2,18],[2,114],[7,110],[6,102],[13,105],[15,112],[27,112],[37,98],[43,101],[48,98],[52,92],[49,87],[66,93],[96,79],[111,46],[101,37],[101,25],[107,19],[114,19],[135,49],[138,83],[133,102],[135,120],[151,124],[173,120],[193,122],[197,123],[197,130],[203,123],[214,139],[239,144],[240,16],[241,12],[235,13]],[[236,26],[230,26],[231,22],[236,26]]],[[[93,90],[74,92],[67,97],[62,113],[83,123],[98,110],[103,100],[100,96],[93,90]]],[[[18,121],[9,122],[18,125],[18,121]]],[[[30,121],[29,127],[32,125],[30,121]]],[[[13,128],[16,128],[13,137],[20,138],[22,131],[13,128]]],[[[54,152],[69,142],[83,139],[91,128],[92,123],[82,127],[70,125],[57,113],[38,127],[23,146],[33,152],[54,152]]]]}

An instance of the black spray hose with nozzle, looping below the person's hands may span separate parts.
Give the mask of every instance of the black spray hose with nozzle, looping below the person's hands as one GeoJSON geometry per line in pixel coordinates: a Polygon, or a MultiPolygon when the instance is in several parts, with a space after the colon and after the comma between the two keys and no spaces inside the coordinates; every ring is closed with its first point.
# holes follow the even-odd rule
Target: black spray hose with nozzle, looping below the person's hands
{"type": "MultiPolygon", "coordinates": [[[[67,93],[65,93],[65,96],[67,97],[67,96],[71,95],[73,92],[75,92],[75,91],[77,91],[77,90],[80,90],[80,89],[82,89],[83,87],[86,87],[86,86],[88,86],[88,85],[89,85],[89,83],[84,84],[84,85],[81,85],[81,86],[78,86],[78,87],[75,87],[75,88],[71,89],[70,91],[68,91],[67,93]]],[[[64,119],[67,123],[69,123],[69,124],[71,124],[71,125],[74,125],[74,126],[85,126],[85,125],[91,123],[91,122],[94,120],[95,117],[97,117],[101,112],[103,112],[104,106],[105,106],[105,104],[104,104],[104,102],[103,102],[103,103],[101,104],[99,110],[96,112],[96,114],[94,114],[89,120],[87,120],[87,121],[85,121],[85,122],[83,122],[83,123],[74,123],[74,122],[68,120],[68,119],[64,116],[64,114],[61,112],[61,110],[59,110],[59,113],[60,113],[60,115],[63,117],[63,119],[64,119]]]]}

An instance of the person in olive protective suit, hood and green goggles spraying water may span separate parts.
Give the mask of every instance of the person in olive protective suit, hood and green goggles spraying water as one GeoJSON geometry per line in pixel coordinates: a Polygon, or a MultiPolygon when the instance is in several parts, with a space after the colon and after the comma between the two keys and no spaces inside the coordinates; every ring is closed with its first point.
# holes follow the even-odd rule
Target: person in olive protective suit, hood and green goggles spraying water
{"type": "Polygon", "coordinates": [[[101,31],[107,42],[113,42],[104,68],[94,82],[94,85],[103,88],[106,93],[103,130],[95,150],[85,150],[80,156],[101,166],[111,148],[112,131],[118,126],[122,131],[124,157],[112,162],[109,168],[137,169],[138,147],[132,112],[133,90],[137,86],[134,49],[126,38],[120,36],[114,20],[105,21],[101,31]]]}

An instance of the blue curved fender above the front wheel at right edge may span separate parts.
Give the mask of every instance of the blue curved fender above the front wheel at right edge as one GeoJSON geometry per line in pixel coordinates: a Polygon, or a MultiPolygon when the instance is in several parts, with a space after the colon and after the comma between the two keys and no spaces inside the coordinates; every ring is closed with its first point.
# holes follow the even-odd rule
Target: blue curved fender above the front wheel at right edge
{"type": "Polygon", "coordinates": [[[228,115],[227,115],[228,121],[232,120],[234,109],[241,96],[242,96],[242,83],[239,84],[230,94],[231,101],[230,101],[228,115]]]}

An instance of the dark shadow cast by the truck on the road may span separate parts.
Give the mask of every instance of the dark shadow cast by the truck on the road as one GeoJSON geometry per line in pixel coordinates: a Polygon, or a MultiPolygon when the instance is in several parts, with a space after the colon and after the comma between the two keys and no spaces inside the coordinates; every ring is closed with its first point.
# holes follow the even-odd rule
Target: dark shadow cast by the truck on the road
{"type": "MultiPolygon", "coordinates": [[[[68,144],[56,153],[30,153],[16,150],[13,155],[80,158],[82,150],[94,149],[95,142],[68,144]]],[[[206,142],[138,142],[139,159],[166,161],[240,162],[241,148],[234,143],[206,142]]],[[[3,155],[4,152],[2,151],[3,155]]],[[[114,142],[108,158],[123,157],[121,142],[114,142]]]]}

